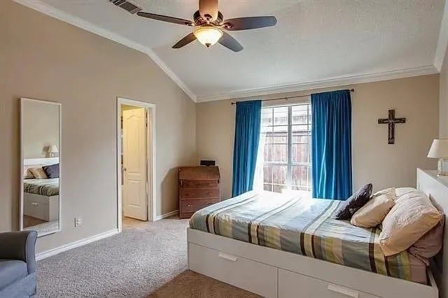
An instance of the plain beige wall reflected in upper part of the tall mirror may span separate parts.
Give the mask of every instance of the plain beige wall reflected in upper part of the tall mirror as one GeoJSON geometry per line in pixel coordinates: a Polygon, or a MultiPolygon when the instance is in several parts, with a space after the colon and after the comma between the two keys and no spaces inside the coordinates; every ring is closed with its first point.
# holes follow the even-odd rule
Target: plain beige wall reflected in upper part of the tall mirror
{"type": "Polygon", "coordinates": [[[22,102],[22,152],[24,158],[47,157],[47,147],[59,148],[59,106],[25,99],[22,102]]]}

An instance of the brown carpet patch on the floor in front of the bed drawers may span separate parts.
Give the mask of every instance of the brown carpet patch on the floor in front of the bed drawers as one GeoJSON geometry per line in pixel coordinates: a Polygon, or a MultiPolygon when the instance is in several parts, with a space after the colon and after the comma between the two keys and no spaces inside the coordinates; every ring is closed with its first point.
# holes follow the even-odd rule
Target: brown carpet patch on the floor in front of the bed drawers
{"type": "Polygon", "coordinates": [[[149,297],[252,298],[260,296],[188,270],[162,285],[149,297]]]}

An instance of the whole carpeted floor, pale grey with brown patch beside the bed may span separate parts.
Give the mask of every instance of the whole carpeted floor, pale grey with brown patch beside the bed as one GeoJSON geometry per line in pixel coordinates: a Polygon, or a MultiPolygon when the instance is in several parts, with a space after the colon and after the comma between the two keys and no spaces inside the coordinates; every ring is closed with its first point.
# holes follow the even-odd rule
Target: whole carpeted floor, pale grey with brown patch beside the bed
{"type": "Polygon", "coordinates": [[[39,261],[36,297],[254,297],[186,271],[187,226],[124,220],[121,234],[39,261]]]}

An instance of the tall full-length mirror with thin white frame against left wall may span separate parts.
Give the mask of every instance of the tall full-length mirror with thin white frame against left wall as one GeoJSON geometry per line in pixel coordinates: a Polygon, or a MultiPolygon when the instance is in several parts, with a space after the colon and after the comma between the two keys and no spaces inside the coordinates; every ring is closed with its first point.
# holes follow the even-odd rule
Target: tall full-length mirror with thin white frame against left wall
{"type": "Polygon", "coordinates": [[[20,99],[20,229],[60,231],[61,104],[20,99]]]}

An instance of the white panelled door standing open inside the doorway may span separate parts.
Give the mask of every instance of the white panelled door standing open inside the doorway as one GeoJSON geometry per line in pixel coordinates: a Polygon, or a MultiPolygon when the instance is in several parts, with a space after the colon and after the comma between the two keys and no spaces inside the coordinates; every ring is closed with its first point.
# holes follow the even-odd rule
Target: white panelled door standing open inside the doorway
{"type": "Polygon", "coordinates": [[[148,220],[146,111],[123,111],[123,215],[148,220]]]}

